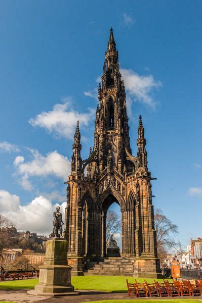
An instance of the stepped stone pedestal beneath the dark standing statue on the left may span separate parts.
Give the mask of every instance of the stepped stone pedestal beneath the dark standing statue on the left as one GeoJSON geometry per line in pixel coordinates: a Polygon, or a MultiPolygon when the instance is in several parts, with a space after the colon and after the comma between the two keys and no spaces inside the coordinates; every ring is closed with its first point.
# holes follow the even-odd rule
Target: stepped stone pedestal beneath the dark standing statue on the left
{"type": "Polygon", "coordinates": [[[71,285],[71,267],[67,265],[67,241],[53,238],[46,242],[44,265],[39,267],[39,283],[35,295],[57,296],[78,294],[71,285]]]}

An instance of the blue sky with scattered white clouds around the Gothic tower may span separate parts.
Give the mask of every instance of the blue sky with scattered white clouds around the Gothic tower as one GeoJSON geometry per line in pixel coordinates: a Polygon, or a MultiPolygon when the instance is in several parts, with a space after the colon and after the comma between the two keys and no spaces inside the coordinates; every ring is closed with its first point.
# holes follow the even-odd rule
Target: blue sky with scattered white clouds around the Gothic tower
{"type": "Polygon", "coordinates": [[[55,204],[65,205],[77,119],[83,159],[93,144],[112,26],[133,153],[141,114],[157,178],[154,207],[179,226],[183,245],[201,236],[201,9],[201,1],[1,1],[1,213],[49,233],[55,204]]]}

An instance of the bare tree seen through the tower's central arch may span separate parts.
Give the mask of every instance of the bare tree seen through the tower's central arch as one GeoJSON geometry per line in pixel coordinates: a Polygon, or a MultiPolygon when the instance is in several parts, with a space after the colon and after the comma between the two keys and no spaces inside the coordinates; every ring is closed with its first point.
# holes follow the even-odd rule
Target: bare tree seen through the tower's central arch
{"type": "Polygon", "coordinates": [[[108,211],[106,217],[106,246],[110,235],[114,235],[114,233],[119,232],[121,229],[122,221],[120,220],[120,216],[112,210],[108,211]]]}

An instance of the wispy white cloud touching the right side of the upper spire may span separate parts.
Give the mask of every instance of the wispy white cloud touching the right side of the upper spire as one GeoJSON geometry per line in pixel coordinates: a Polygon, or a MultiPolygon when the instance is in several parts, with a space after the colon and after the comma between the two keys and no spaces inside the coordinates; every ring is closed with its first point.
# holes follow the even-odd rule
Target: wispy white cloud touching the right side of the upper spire
{"type": "Polygon", "coordinates": [[[156,101],[153,99],[153,89],[159,88],[162,84],[155,81],[153,75],[140,76],[131,69],[120,69],[128,97],[135,102],[141,102],[155,108],[156,101]]]}

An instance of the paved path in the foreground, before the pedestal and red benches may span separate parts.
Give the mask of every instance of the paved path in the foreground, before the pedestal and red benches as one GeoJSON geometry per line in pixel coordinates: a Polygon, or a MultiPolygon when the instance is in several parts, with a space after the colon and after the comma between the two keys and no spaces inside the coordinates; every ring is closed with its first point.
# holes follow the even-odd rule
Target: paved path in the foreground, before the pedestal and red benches
{"type": "MultiPolygon", "coordinates": [[[[129,299],[128,293],[111,293],[111,292],[102,292],[102,291],[86,291],[86,290],[79,290],[81,293],[77,296],[64,296],[64,297],[46,297],[46,296],[34,296],[27,294],[26,289],[2,289],[0,290],[0,301],[15,301],[15,302],[28,302],[34,303],[41,301],[42,303],[77,303],[77,302],[88,302],[88,301],[99,301],[99,300],[107,300],[107,299],[129,299]]],[[[183,297],[184,299],[187,297],[183,297]]],[[[193,297],[191,297],[193,298],[193,297]]],[[[154,297],[152,298],[154,299],[154,297]]],[[[159,299],[159,298],[156,298],[159,299]]],[[[166,298],[164,298],[166,299],[166,298]]],[[[169,298],[172,299],[172,298],[169,298]]],[[[174,297],[173,299],[176,299],[174,297]]],[[[194,299],[198,299],[202,301],[202,297],[194,297],[194,299]]],[[[150,298],[145,298],[145,303],[149,302],[150,298]]]]}

